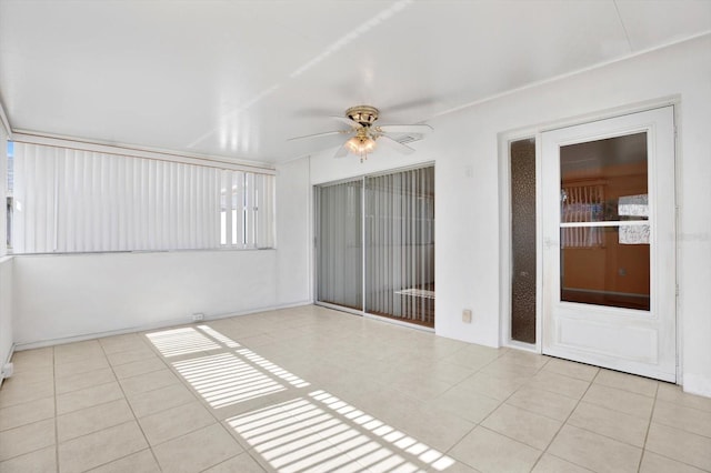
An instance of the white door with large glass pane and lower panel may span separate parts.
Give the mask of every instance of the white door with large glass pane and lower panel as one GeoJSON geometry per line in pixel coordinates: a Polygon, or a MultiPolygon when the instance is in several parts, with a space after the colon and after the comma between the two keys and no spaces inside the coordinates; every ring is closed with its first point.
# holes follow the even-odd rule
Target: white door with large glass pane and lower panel
{"type": "Polygon", "coordinates": [[[543,353],[675,381],[673,107],[541,138],[543,353]]]}

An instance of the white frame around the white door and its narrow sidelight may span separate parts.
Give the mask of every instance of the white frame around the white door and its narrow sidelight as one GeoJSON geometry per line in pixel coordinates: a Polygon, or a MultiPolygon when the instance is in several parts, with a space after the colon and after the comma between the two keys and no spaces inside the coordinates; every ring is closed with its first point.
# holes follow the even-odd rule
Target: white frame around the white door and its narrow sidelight
{"type": "MultiPolygon", "coordinates": [[[[644,102],[638,102],[618,107],[614,109],[599,110],[582,115],[563,118],[560,120],[541,122],[528,127],[512,129],[500,132],[498,134],[498,168],[499,168],[499,235],[502,245],[499,251],[499,344],[501,346],[513,348],[519,350],[525,350],[534,353],[542,353],[542,314],[543,314],[543,241],[542,241],[542,198],[541,198],[541,179],[542,179],[542,148],[541,135],[547,131],[557,130],[560,128],[572,127],[578,124],[584,124],[599,120],[607,120],[615,117],[622,117],[627,114],[633,114],[654,110],[663,107],[673,107],[673,115],[675,130],[674,135],[679,134],[679,119],[681,97],[670,95],[655,100],[649,100],[644,102]],[[511,340],[511,286],[512,286],[512,234],[511,234],[511,164],[510,164],[510,143],[523,139],[535,139],[535,343],[522,343],[515,340],[511,340]]],[[[681,149],[679,147],[680,140],[674,142],[674,200],[677,208],[675,215],[675,280],[677,288],[679,288],[679,175],[680,175],[680,162],[681,162],[681,149]]],[[[681,311],[679,308],[679,291],[677,291],[675,299],[675,324],[677,324],[677,384],[682,384],[682,320],[679,316],[681,311]]]]}

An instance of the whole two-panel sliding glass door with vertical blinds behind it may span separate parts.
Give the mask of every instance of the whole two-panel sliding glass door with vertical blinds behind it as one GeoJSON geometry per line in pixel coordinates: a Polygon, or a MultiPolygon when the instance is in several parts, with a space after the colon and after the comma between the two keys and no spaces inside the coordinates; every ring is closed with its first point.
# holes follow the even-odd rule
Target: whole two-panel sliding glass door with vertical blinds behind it
{"type": "Polygon", "coordinates": [[[317,205],[318,301],[434,326],[434,168],[323,185],[317,205]]]}

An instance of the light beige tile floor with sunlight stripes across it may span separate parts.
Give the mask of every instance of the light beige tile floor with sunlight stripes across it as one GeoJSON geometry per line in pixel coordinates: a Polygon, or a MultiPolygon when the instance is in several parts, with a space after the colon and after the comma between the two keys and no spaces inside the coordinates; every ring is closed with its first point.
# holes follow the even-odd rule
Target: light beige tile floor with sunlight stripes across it
{"type": "Polygon", "coordinates": [[[18,352],[0,471],[711,471],[711,399],[303,306],[18,352]]]}

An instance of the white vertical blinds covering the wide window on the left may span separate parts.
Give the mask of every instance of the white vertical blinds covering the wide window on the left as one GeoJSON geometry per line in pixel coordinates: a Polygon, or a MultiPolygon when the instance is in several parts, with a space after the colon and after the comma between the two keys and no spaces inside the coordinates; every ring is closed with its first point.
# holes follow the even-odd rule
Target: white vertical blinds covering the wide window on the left
{"type": "MultiPolygon", "coordinates": [[[[14,253],[273,243],[269,205],[260,219],[270,223],[243,239],[240,183],[253,173],[19,142],[14,155],[14,253]]],[[[273,195],[273,178],[259,178],[273,195]]]]}

